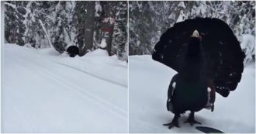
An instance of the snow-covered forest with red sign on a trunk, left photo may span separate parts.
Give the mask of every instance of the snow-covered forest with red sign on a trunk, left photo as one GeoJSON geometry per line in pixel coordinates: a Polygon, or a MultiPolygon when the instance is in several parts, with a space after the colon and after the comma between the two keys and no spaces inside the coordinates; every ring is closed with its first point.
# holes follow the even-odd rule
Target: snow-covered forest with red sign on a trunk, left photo
{"type": "Polygon", "coordinates": [[[5,43],[64,53],[78,46],[79,55],[96,49],[128,61],[127,2],[5,2],[5,43]]]}

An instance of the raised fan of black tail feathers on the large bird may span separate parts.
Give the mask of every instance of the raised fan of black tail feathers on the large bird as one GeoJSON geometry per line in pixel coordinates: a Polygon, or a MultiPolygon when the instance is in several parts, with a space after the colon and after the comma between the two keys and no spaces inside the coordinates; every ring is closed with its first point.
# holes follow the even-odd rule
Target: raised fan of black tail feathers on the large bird
{"type": "Polygon", "coordinates": [[[230,27],[220,19],[187,19],[168,29],[154,46],[152,58],[180,71],[182,58],[193,31],[202,37],[209,77],[216,92],[227,97],[237,88],[244,70],[244,52],[230,27]]]}

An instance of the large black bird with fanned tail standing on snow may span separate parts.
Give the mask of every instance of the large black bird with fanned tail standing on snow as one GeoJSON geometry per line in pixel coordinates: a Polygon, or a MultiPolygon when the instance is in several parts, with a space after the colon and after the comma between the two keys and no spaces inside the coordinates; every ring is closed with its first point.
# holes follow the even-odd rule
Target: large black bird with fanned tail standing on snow
{"type": "Polygon", "coordinates": [[[168,89],[167,108],[175,114],[164,125],[178,125],[180,114],[190,111],[186,122],[199,123],[194,113],[213,112],[215,92],[227,97],[237,88],[244,70],[244,52],[230,27],[220,19],[196,18],[178,22],[154,47],[152,58],[176,70],[168,89]]]}

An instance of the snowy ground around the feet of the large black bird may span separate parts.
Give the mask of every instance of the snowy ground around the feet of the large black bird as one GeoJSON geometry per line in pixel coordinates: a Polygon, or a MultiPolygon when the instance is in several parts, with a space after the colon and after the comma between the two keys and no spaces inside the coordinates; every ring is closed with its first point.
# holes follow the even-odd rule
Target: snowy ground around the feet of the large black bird
{"type": "MultiPolygon", "coordinates": [[[[130,132],[199,132],[195,126],[184,124],[189,112],[179,119],[181,128],[168,129],[173,114],[166,109],[168,85],[175,70],[151,60],[150,56],[129,58],[129,125],[130,132]]],[[[228,98],[216,96],[215,110],[195,113],[202,126],[223,132],[255,132],[255,66],[244,68],[242,80],[228,98]]]]}

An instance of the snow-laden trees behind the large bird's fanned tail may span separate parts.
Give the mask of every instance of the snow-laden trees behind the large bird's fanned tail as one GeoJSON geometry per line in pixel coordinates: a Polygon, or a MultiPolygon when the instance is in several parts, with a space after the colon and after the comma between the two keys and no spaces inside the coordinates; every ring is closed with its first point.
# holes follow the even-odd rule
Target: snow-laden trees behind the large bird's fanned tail
{"type": "Polygon", "coordinates": [[[254,1],[130,2],[129,55],[151,54],[160,36],[175,22],[196,17],[227,22],[246,54],[245,63],[255,60],[254,1]]]}

